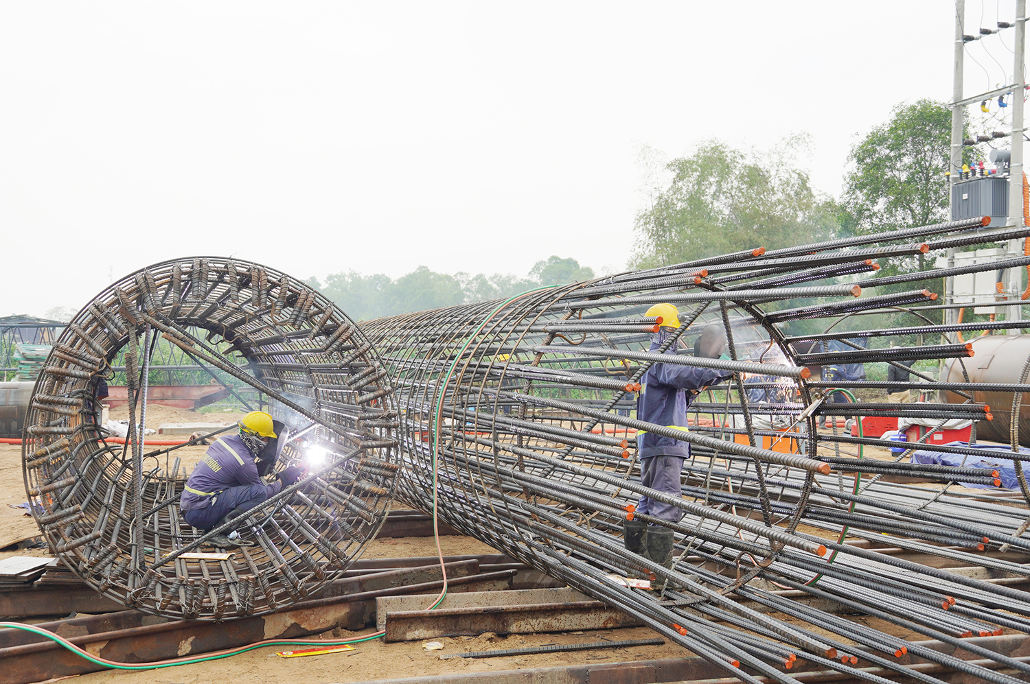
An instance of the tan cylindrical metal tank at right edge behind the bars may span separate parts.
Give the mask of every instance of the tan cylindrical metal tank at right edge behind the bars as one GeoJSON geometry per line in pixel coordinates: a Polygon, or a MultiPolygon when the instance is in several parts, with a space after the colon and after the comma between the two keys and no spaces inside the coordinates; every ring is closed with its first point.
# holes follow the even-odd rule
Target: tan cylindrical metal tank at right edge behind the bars
{"type": "MultiPolygon", "coordinates": [[[[1027,358],[1030,357],[1030,334],[1027,335],[982,335],[968,340],[972,343],[975,355],[962,359],[970,383],[1020,382],[1027,358]]],[[[958,359],[951,359],[942,373],[949,383],[962,383],[962,367],[958,359]]],[[[976,436],[994,441],[1008,441],[1010,416],[1012,412],[1011,392],[973,392],[973,399],[991,406],[993,421],[980,421],[976,436]]],[[[948,401],[961,403],[964,398],[948,393],[948,401]]],[[[1030,393],[1024,393],[1019,416],[1020,444],[1030,446],[1030,393]]]]}

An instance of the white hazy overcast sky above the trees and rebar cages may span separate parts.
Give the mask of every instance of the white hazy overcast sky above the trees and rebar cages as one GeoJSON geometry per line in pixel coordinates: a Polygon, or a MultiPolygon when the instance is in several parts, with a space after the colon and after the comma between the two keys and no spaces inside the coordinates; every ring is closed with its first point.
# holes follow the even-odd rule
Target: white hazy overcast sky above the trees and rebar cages
{"type": "MultiPolygon", "coordinates": [[[[987,5],[968,0],[967,32],[982,12],[993,26],[987,5]]],[[[954,11],[5,2],[0,315],[77,310],[111,275],[197,254],[302,279],[522,276],[551,254],[622,269],[643,147],[806,132],[800,163],[838,195],[858,136],[900,102],[950,99],[954,11]]],[[[1003,82],[995,47],[967,95],[1003,82]]]]}

